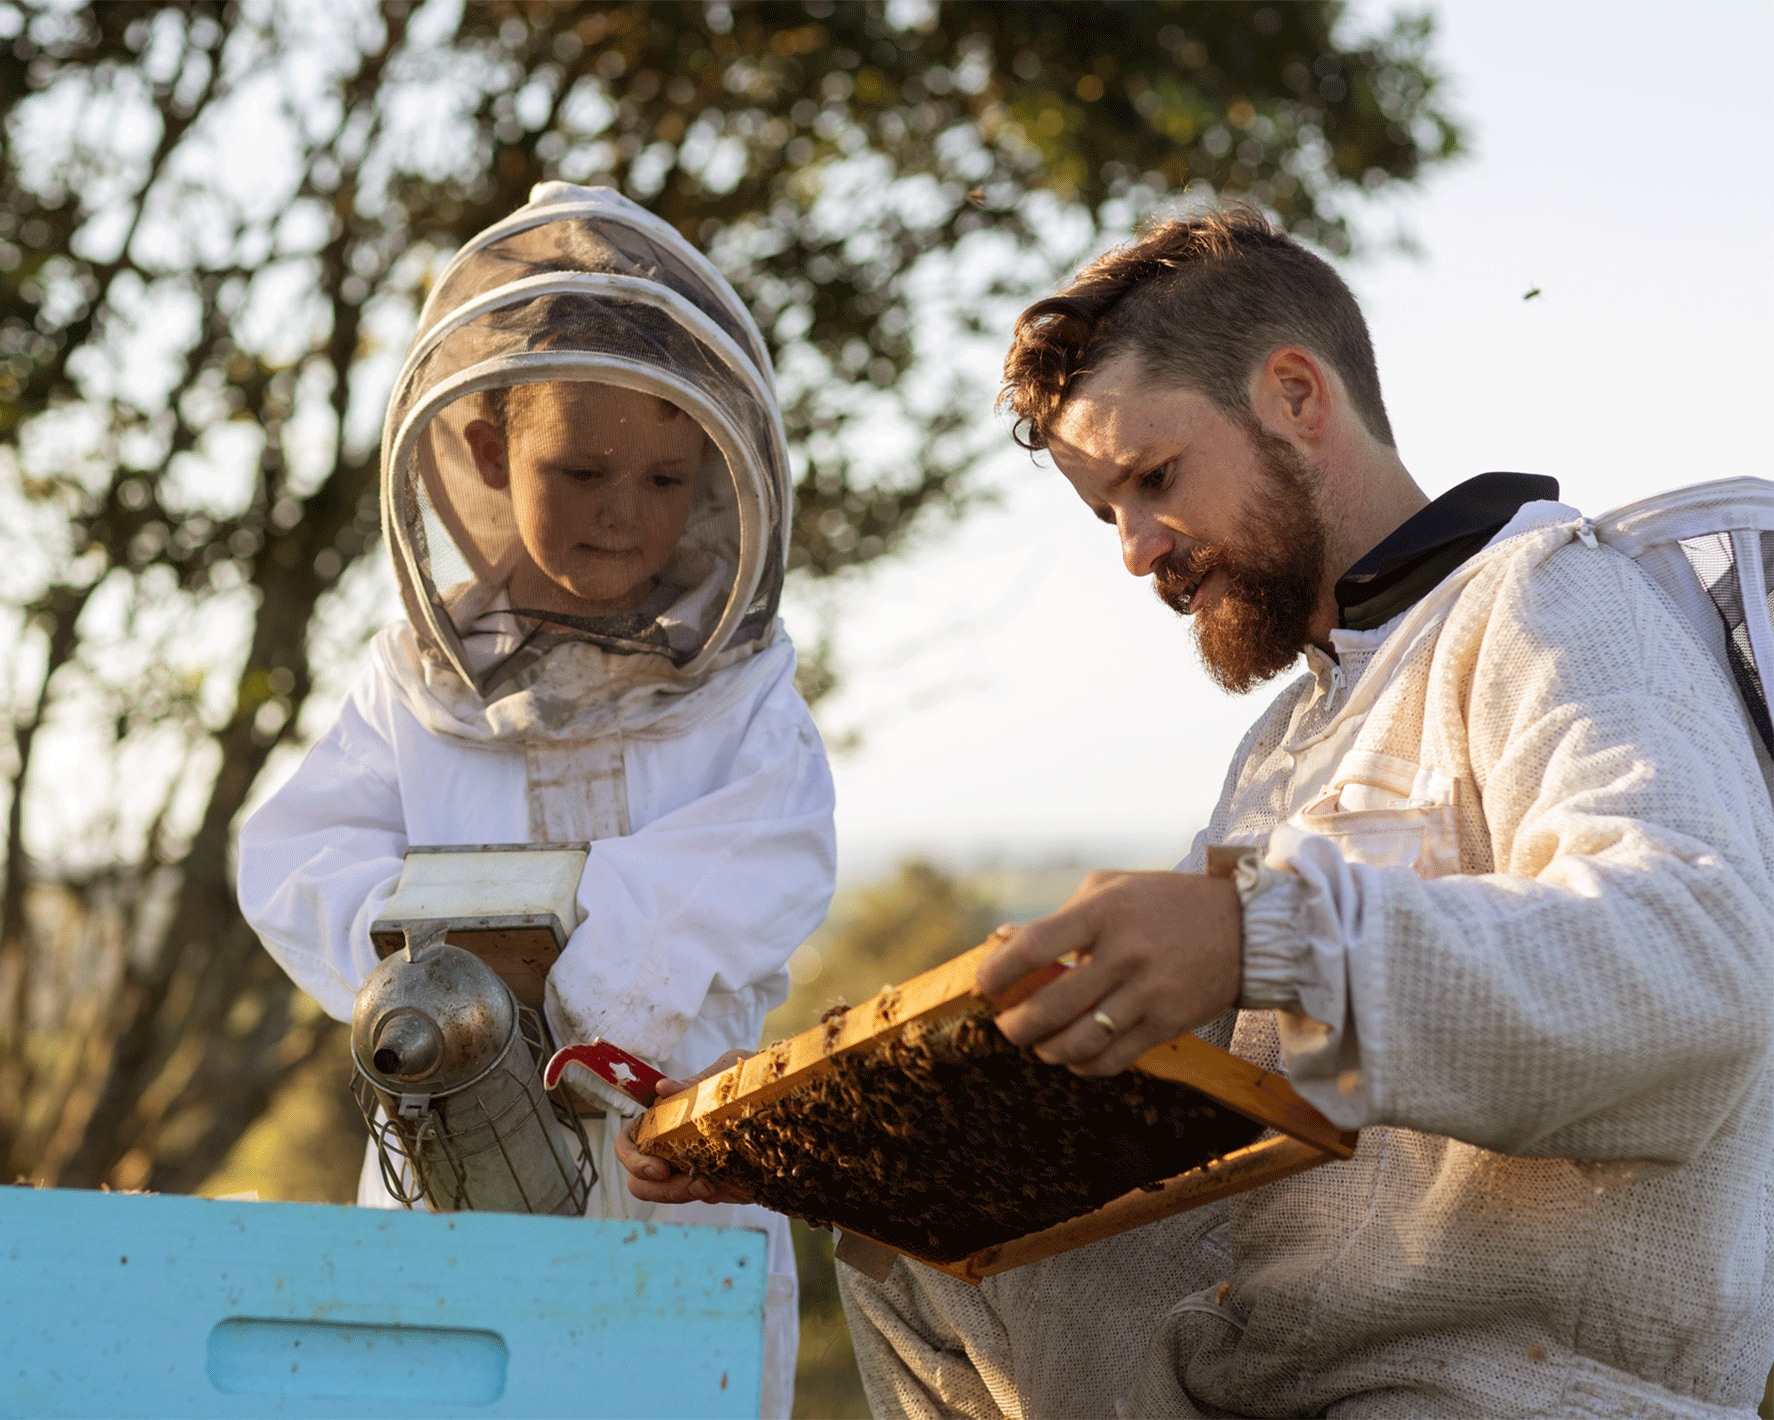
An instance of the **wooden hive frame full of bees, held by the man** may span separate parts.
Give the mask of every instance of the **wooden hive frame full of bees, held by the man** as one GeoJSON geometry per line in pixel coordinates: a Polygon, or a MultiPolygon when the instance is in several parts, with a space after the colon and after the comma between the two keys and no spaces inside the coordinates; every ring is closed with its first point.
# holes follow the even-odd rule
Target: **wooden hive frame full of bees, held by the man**
{"type": "Polygon", "coordinates": [[[658,1100],[635,1143],[727,1198],[843,1228],[839,1257],[866,1271],[905,1253],[967,1282],[1355,1152],[1284,1077],[1196,1035],[1111,1079],[1047,1065],[992,1017],[1068,967],[988,998],[995,946],[658,1100]]]}

